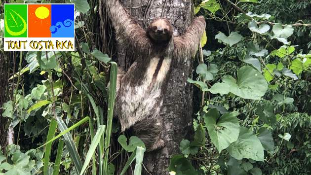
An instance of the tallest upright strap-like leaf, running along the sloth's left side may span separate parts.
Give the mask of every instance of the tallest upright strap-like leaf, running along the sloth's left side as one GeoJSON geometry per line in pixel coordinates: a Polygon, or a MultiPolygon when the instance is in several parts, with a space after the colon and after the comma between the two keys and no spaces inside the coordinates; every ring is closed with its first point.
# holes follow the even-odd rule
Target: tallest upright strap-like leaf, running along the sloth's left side
{"type": "Polygon", "coordinates": [[[106,138],[105,138],[105,155],[104,155],[104,173],[105,174],[107,174],[107,168],[108,168],[108,154],[109,154],[110,136],[111,136],[111,128],[112,128],[112,119],[113,119],[113,114],[114,114],[114,105],[115,105],[115,99],[116,99],[116,86],[117,86],[117,63],[111,62],[107,130],[106,130],[106,138]]]}

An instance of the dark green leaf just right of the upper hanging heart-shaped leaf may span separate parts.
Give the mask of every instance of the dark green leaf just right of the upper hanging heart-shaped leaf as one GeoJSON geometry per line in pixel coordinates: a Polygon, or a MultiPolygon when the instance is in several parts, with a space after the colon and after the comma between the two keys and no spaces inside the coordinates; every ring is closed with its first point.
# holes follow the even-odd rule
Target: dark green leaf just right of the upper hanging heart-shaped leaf
{"type": "Polygon", "coordinates": [[[256,113],[259,116],[259,119],[266,124],[274,125],[276,123],[276,118],[273,113],[273,105],[269,102],[258,103],[256,105],[256,113]]]}

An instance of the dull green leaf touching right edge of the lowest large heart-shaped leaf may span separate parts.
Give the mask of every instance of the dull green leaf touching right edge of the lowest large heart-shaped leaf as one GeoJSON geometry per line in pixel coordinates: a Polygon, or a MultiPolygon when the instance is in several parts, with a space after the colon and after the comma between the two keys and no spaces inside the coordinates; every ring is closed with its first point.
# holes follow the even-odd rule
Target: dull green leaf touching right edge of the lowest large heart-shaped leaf
{"type": "Polygon", "coordinates": [[[258,133],[259,133],[258,139],[264,146],[265,150],[272,152],[274,150],[274,141],[271,132],[266,128],[260,128],[258,133]]]}

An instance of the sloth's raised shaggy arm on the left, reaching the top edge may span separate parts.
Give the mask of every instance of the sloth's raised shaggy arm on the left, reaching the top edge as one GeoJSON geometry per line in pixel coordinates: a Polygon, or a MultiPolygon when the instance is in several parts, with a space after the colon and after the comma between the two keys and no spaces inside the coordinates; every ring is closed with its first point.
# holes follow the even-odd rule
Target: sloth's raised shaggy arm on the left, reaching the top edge
{"type": "Polygon", "coordinates": [[[117,40],[133,50],[146,52],[150,40],[119,0],[104,0],[117,40]]]}

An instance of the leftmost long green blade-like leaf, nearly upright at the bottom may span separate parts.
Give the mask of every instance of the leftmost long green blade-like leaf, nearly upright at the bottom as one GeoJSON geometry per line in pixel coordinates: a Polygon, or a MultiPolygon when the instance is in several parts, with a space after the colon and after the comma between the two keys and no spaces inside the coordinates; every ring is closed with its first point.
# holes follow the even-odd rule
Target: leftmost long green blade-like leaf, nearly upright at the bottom
{"type": "MultiPolygon", "coordinates": [[[[54,137],[56,132],[57,122],[54,118],[52,118],[50,127],[47,133],[46,141],[51,140],[54,137]]],[[[46,144],[44,151],[44,167],[43,167],[43,175],[48,175],[48,163],[50,162],[50,154],[51,154],[52,142],[46,144]]]]}

